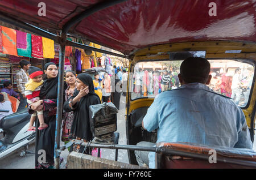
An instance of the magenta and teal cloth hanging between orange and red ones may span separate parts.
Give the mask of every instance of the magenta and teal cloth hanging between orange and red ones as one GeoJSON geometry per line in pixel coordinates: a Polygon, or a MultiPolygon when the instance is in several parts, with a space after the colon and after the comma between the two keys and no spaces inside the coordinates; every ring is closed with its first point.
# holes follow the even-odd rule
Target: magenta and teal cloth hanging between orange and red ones
{"type": "Polygon", "coordinates": [[[31,58],[31,34],[16,30],[18,55],[31,58]]]}

